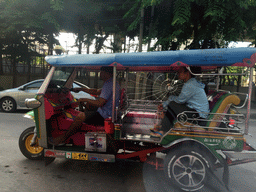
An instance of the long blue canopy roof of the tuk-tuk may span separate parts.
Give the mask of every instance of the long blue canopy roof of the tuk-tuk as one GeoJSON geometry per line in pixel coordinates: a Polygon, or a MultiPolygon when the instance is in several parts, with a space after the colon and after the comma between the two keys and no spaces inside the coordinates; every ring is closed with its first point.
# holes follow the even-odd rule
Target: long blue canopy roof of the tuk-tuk
{"type": "Polygon", "coordinates": [[[97,67],[118,65],[124,67],[166,66],[248,66],[256,61],[256,48],[223,48],[139,53],[81,54],[47,56],[52,66],[97,67]]]}

